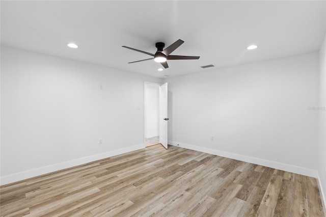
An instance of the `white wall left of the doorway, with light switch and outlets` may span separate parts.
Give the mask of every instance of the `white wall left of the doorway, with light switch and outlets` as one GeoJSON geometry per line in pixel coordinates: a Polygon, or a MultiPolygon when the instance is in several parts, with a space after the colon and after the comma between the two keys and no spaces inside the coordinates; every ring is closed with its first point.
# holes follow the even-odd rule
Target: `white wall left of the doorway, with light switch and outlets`
{"type": "Polygon", "coordinates": [[[144,80],[1,47],[1,184],[145,147],[144,80]]]}

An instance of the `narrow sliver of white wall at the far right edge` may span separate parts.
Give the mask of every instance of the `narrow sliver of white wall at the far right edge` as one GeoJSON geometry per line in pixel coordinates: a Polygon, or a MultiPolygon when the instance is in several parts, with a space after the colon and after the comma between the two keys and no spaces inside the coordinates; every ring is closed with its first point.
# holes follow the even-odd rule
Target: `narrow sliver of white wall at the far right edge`
{"type": "Polygon", "coordinates": [[[326,36],[319,51],[319,103],[317,106],[321,108],[316,111],[319,115],[317,171],[326,212],[326,36]]]}

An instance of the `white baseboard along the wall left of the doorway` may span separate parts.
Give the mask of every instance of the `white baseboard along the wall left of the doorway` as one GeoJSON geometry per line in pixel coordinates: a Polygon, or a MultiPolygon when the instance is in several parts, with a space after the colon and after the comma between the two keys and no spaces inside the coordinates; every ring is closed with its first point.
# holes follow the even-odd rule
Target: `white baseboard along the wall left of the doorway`
{"type": "Polygon", "coordinates": [[[66,162],[61,162],[59,164],[49,165],[46,167],[36,168],[33,170],[28,170],[28,171],[24,171],[24,172],[20,172],[20,173],[2,176],[0,178],[0,185],[9,184],[12,182],[32,178],[35,176],[40,176],[40,175],[55,172],[58,170],[63,170],[63,169],[67,169],[70,167],[87,164],[87,163],[95,161],[95,160],[100,160],[100,159],[104,159],[107,157],[124,154],[124,153],[130,152],[130,151],[136,151],[136,150],[143,149],[143,148],[145,148],[145,145],[140,144],[140,145],[130,146],[127,148],[121,148],[118,150],[108,151],[105,153],[82,157],[82,158],[78,158],[78,159],[74,159],[74,160],[69,160],[66,162]]]}

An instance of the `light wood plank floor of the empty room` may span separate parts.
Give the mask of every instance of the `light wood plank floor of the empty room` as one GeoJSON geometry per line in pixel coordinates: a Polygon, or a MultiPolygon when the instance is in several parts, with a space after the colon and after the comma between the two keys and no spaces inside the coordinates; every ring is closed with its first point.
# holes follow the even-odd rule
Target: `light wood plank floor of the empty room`
{"type": "Polygon", "coordinates": [[[324,216],[315,178],[161,145],[1,186],[1,216],[324,216]]]}

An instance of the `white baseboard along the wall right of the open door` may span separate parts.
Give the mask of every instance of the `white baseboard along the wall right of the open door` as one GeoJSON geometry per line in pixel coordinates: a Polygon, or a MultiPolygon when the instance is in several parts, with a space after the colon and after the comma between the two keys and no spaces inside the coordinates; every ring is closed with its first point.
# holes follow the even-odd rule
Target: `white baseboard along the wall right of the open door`
{"type": "Polygon", "coordinates": [[[175,142],[175,141],[168,141],[168,144],[173,145],[173,146],[178,145],[179,147],[186,148],[186,149],[201,151],[201,152],[205,152],[208,154],[214,154],[214,155],[218,155],[218,156],[222,156],[222,157],[228,157],[231,159],[250,162],[252,164],[257,164],[257,165],[261,165],[261,166],[265,166],[265,167],[270,167],[270,168],[274,168],[274,169],[278,169],[278,170],[283,170],[283,171],[287,171],[287,172],[291,172],[291,173],[297,173],[297,174],[317,178],[317,171],[313,170],[313,169],[297,167],[294,165],[283,164],[281,162],[270,161],[270,160],[260,159],[260,158],[256,158],[256,157],[250,157],[250,156],[246,156],[246,155],[234,154],[234,153],[230,153],[230,152],[225,152],[225,151],[220,151],[220,150],[216,150],[216,149],[205,148],[205,147],[200,147],[200,146],[195,146],[195,145],[189,145],[189,144],[179,143],[179,142],[175,142]]]}

